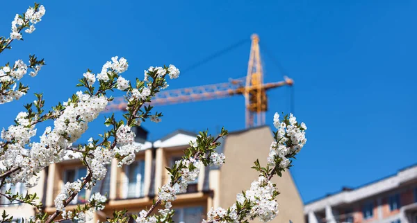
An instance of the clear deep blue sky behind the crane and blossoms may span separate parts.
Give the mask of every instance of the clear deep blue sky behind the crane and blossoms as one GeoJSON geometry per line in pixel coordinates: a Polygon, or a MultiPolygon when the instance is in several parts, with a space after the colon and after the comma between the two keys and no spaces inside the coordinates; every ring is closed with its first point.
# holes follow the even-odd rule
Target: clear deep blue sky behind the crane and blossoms
{"type": "MultiPolygon", "coordinates": [[[[208,55],[258,33],[295,80],[295,116],[309,127],[308,143],[291,170],[304,202],[390,175],[416,162],[416,1],[42,1],[47,13],[24,42],[0,55],[0,64],[35,53],[47,66],[26,77],[30,93],[47,106],[78,91],[77,79],[113,55],[126,57],[124,75],[142,78],[149,66],[186,69],[208,55]]],[[[9,35],[17,12],[33,1],[5,1],[0,33],[9,35]]],[[[183,73],[170,88],[226,82],[246,75],[250,42],[183,73]]],[[[263,52],[265,81],[282,73],[263,52]]],[[[268,123],[289,112],[288,88],[269,92],[268,123]]],[[[22,100],[1,106],[10,125],[22,100]]],[[[216,133],[241,130],[243,97],[157,107],[161,123],[145,123],[151,139],[178,128],[216,133]]],[[[89,134],[102,132],[101,121],[89,134]]],[[[85,136],[83,140],[88,139],[85,136]]],[[[256,140],[256,139],[254,139],[256,140]]],[[[256,149],[256,148],[254,148],[256,149]]]]}

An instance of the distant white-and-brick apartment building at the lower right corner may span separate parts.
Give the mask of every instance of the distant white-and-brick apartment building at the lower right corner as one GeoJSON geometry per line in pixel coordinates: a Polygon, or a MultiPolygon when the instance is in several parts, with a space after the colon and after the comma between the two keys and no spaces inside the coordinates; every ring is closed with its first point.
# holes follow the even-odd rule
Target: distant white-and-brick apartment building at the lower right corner
{"type": "Polygon", "coordinates": [[[304,206],[308,223],[417,223],[417,165],[304,206]]]}

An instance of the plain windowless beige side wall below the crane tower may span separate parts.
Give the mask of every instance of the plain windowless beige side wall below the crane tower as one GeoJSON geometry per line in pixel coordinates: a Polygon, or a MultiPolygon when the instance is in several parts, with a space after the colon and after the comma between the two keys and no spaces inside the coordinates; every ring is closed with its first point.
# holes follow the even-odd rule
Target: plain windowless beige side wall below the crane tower
{"type": "MultiPolygon", "coordinates": [[[[265,166],[273,136],[268,126],[252,130],[234,132],[224,141],[226,163],[220,169],[220,201],[218,204],[227,208],[236,202],[236,194],[250,188],[252,181],[258,178],[258,172],[251,169],[254,161],[259,159],[265,166]]],[[[294,184],[291,173],[287,170],[282,177],[274,177],[281,193],[278,195],[279,214],[272,222],[304,223],[303,203],[294,184]]],[[[213,202],[216,204],[216,202],[213,202]]],[[[255,221],[256,222],[256,221],[255,221]]]]}

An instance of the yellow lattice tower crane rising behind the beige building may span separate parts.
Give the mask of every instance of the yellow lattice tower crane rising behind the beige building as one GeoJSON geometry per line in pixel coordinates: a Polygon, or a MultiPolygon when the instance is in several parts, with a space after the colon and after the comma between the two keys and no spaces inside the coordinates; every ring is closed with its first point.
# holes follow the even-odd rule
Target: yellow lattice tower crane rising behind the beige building
{"type": "MultiPolygon", "coordinates": [[[[172,105],[184,102],[212,100],[234,95],[245,97],[245,125],[256,127],[265,124],[265,111],[268,110],[266,91],[284,85],[293,85],[293,80],[284,76],[280,82],[263,82],[261,55],[259,52],[259,36],[252,35],[250,57],[247,65],[247,75],[243,78],[229,80],[220,84],[209,84],[199,87],[172,89],[161,91],[152,98],[152,106],[172,105]]],[[[125,110],[126,100],[115,98],[107,107],[108,111],[125,110]]]]}

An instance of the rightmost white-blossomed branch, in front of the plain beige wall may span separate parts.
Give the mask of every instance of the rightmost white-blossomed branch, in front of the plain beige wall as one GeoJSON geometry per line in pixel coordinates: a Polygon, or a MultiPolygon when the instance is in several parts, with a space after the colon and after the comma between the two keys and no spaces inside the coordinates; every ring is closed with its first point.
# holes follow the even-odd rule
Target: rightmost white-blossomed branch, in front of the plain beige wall
{"type": "Polygon", "coordinates": [[[259,179],[252,183],[250,190],[238,194],[236,204],[227,210],[212,208],[208,212],[208,221],[204,222],[247,222],[255,217],[259,217],[262,222],[268,222],[278,214],[275,198],[279,192],[270,180],[275,175],[281,177],[281,173],[291,167],[291,159],[295,158],[306,143],[307,127],[304,123],[297,123],[293,114],[284,116],[284,120],[280,122],[277,113],[274,116],[274,125],[278,131],[274,132],[275,141],[270,147],[267,166],[261,167],[256,160],[252,167],[259,172],[259,179]]]}

